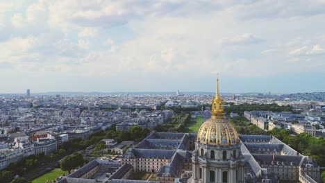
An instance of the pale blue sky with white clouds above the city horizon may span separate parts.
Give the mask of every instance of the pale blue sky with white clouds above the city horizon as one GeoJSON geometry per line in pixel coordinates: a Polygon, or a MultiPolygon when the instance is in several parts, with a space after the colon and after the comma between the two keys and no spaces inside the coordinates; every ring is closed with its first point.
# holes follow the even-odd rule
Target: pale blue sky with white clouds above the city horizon
{"type": "Polygon", "coordinates": [[[0,0],[0,93],[325,91],[325,0],[0,0]]]}

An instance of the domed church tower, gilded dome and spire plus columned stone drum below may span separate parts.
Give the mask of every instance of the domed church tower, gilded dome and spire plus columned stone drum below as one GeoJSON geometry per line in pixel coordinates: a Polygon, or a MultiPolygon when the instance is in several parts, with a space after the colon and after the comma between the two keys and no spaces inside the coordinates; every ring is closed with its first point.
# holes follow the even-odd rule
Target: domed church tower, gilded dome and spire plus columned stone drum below
{"type": "Polygon", "coordinates": [[[192,157],[194,182],[244,182],[244,158],[240,139],[233,125],[224,117],[224,101],[217,92],[211,106],[211,118],[199,132],[192,157]]]}

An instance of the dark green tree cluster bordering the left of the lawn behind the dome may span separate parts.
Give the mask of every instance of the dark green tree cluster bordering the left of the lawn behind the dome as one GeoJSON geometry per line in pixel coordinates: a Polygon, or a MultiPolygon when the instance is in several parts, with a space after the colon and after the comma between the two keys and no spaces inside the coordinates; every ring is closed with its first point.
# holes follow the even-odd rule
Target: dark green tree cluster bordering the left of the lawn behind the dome
{"type": "Polygon", "coordinates": [[[188,113],[174,114],[167,123],[158,125],[155,130],[157,132],[183,132],[190,119],[191,114],[188,113]]]}

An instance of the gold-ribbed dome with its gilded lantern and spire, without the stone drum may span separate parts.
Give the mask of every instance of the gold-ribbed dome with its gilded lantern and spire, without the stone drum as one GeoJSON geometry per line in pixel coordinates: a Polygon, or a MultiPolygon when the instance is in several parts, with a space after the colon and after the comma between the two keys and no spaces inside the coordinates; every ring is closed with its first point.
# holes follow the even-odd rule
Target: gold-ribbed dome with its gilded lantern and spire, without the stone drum
{"type": "Polygon", "coordinates": [[[197,141],[215,146],[230,146],[240,142],[233,125],[224,119],[224,101],[219,95],[219,78],[217,79],[217,92],[212,101],[211,118],[201,125],[197,133],[197,141]]]}

